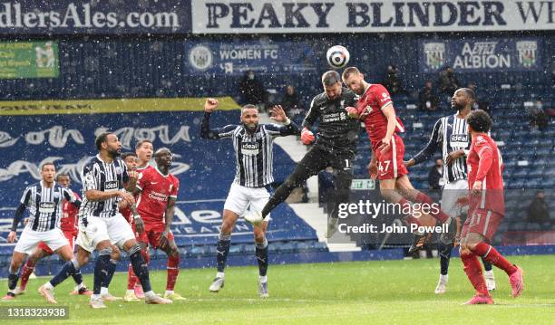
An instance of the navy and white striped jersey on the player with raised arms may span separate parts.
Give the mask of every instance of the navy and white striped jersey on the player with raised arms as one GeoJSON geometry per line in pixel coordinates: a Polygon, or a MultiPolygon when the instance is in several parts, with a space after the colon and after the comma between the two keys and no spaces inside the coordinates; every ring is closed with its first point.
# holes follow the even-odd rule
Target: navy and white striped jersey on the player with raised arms
{"type": "Polygon", "coordinates": [[[204,113],[200,137],[203,139],[231,138],[236,162],[233,182],[247,187],[263,187],[273,183],[274,139],[297,134],[297,125],[292,121],[287,126],[259,124],[258,129],[250,133],[242,125],[210,129],[209,118],[210,114],[204,113]]]}

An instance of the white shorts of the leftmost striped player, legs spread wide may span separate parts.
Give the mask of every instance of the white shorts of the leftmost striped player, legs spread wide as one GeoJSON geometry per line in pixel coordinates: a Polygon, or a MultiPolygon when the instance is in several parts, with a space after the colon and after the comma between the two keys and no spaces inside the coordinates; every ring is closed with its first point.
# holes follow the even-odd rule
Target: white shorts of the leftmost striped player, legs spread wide
{"type": "Polygon", "coordinates": [[[41,242],[47,244],[54,252],[65,245],[69,245],[67,238],[65,238],[60,228],[54,228],[46,232],[37,232],[29,227],[25,227],[19,237],[19,241],[15,244],[14,250],[15,252],[30,255],[41,242]]]}

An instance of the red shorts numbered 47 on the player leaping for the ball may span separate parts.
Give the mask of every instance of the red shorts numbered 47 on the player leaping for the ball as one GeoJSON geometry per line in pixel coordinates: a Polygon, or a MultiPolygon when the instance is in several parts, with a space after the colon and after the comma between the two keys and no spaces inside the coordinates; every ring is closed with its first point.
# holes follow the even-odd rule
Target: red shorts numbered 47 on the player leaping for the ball
{"type": "Polygon", "coordinates": [[[404,166],[404,142],[396,134],[391,139],[391,147],[385,153],[375,148],[377,158],[378,179],[394,179],[408,174],[404,166]]]}

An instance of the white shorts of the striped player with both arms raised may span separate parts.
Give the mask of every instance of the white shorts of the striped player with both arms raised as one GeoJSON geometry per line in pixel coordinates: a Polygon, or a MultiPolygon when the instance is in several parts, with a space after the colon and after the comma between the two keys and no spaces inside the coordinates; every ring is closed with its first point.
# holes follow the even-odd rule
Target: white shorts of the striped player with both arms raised
{"type": "Polygon", "coordinates": [[[242,216],[250,209],[262,212],[268,203],[269,193],[265,187],[247,187],[238,184],[231,184],[229,195],[224,205],[225,210],[233,211],[242,216]]]}

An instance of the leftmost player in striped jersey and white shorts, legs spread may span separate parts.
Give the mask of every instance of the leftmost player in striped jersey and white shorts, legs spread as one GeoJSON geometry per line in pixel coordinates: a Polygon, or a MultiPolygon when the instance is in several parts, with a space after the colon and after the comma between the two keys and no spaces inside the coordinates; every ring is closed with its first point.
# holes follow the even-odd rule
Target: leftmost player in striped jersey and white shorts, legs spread
{"type": "MultiPolygon", "coordinates": [[[[25,209],[29,209],[29,222],[24,227],[21,238],[15,244],[8,275],[8,292],[3,301],[15,299],[15,287],[19,279],[19,268],[27,255],[33,254],[38,244],[44,243],[47,248],[56,252],[64,261],[73,258],[73,245],[60,229],[62,219],[63,200],[73,206],[81,206],[81,200],[73,196],[73,192],[64,186],[56,184],[54,163],[47,162],[41,166],[39,183],[27,186],[21,197],[20,205],[15,210],[14,222],[7,237],[8,243],[17,239],[16,228],[23,218],[25,209]]],[[[73,242],[73,235],[70,236],[73,242]]],[[[73,279],[83,287],[83,275],[74,272],[73,279]]],[[[83,292],[84,293],[84,292],[83,292]]]]}

